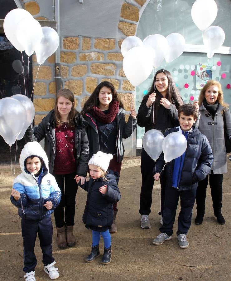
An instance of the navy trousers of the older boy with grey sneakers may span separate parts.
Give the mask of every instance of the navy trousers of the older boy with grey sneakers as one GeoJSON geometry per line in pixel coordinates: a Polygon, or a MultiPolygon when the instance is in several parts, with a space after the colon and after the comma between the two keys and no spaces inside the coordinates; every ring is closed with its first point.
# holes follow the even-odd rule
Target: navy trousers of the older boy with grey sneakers
{"type": "Polygon", "coordinates": [[[180,197],[180,213],[178,216],[178,230],[176,234],[187,234],[191,225],[192,210],[196,198],[196,189],[181,190],[172,186],[166,186],[164,211],[163,211],[163,226],[161,232],[168,235],[173,233],[173,224],[176,217],[176,209],[180,197]]]}

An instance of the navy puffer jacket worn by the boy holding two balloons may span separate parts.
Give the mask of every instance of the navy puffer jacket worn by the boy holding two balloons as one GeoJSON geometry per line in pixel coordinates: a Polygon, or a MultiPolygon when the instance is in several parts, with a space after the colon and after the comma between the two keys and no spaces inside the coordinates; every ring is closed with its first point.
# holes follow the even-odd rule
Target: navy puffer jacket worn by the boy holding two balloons
{"type": "MultiPolygon", "coordinates": [[[[172,128],[164,134],[167,136],[172,132],[178,132],[179,127],[172,128]]],[[[188,145],[186,148],[184,165],[178,185],[179,190],[191,190],[197,187],[200,180],[204,180],[209,174],[213,163],[212,149],[207,140],[198,128],[193,127],[193,130],[188,136],[188,145]]],[[[156,169],[153,169],[153,175],[160,173],[165,165],[164,153],[162,152],[159,159],[156,161],[156,169]]],[[[172,185],[172,173],[174,160],[166,164],[164,170],[166,177],[166,185],[172,185]]]]}

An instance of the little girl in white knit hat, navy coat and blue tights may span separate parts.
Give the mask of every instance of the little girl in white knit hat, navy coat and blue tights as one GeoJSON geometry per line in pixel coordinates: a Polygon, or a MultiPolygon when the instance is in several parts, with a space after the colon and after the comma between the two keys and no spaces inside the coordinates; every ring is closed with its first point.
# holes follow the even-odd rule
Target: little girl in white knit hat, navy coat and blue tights
{"type": "Polygon", "coordinates": [[[92,229],[91,253],[85,261],[92,262],[99,256],[100,234],[103,236],[104,251],[102,264],[111,262],[111,234],[109,229],[113,223],[113,203],[120,200],[117,186],[119,174],[108,170],[112,154],[98,151],[88,162],[90,180],[81,184],[81,177],[76,181],[81,188],[88,192],[87,202],[83,214],[85,227],[92,229]]]}

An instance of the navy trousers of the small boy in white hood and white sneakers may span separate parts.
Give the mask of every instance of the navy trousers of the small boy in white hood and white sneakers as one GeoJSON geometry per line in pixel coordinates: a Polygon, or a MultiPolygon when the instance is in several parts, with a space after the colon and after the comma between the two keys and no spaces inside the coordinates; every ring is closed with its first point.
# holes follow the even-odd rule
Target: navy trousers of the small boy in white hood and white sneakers
{"type": "Polygon", "coordinates": [[[38,234],[40,247],[42,249],[43,264],[51,264],[55,259],[52,257],[52,235],[53,227],[51,216],[44,219],[22,219],[23,258],[25,272],[35,270],[37,259],[34,253],[35,241],[38,234]]]}

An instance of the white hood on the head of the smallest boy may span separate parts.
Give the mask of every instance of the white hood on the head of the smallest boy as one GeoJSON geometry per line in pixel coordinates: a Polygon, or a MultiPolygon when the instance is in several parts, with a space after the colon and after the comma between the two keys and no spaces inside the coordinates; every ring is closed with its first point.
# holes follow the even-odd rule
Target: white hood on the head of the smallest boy
{"type": "Polygon", "coordinates": [[[31,141],[24,145],[19,158],[20,168],[24,175],[29,174],[28,172],[26,172],[25,160],[30,156],[36,156],[41,158],[43,160],[43,167],[47,169],[47,172],[49,172],[48,158],[46,152],[43,150],[43,148],[37,141],[31,141]]]}

